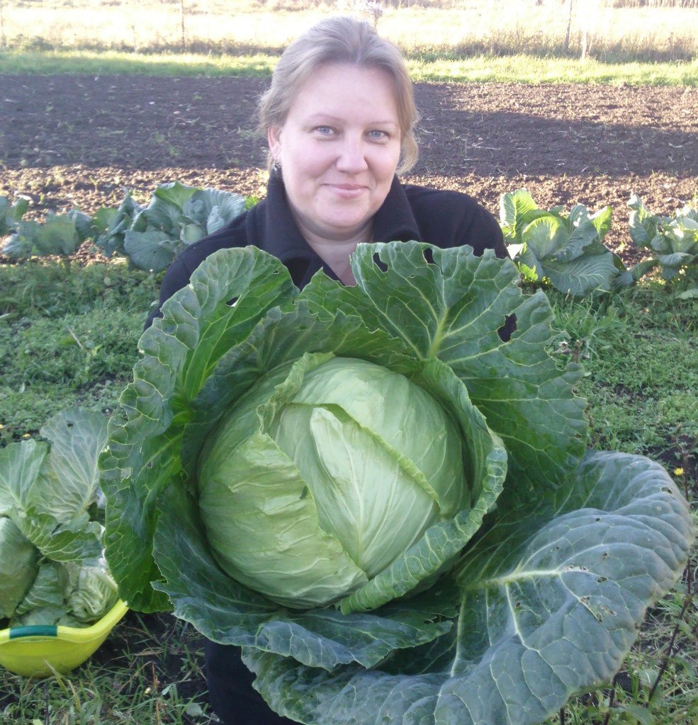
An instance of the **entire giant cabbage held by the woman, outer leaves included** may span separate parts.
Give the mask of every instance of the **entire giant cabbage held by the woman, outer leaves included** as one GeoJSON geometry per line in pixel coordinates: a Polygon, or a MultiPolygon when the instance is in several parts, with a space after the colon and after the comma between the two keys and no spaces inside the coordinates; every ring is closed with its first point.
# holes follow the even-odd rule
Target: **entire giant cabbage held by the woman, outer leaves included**
{"type": "Polygon", "coordinates": [[[352,269],[299,291],[226,249],[165,302],[101,459],[120,596],[242,646],[296,721],[541,722],[620,668],[688,505],[586,449],[581,370],[510,260],[392,242],[352,269]]]}

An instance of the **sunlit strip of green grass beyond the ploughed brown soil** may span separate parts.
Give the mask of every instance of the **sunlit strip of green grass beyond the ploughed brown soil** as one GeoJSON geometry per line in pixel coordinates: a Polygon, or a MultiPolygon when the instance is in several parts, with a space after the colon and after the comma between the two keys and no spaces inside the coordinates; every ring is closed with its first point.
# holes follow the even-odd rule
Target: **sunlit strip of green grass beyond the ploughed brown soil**
{"type": "MultiPolygon", "coordinates": [[[[145,54],[118,51],[0,51],[0,73],[91,73],[99,75],[271,75],[278,55],[145,54]]],[[[698,61],[601,62],[529,55],[453,54],[408,57],[416,81],[476,83],[611,83],[631,86],[698,86],[698,61]]]]}

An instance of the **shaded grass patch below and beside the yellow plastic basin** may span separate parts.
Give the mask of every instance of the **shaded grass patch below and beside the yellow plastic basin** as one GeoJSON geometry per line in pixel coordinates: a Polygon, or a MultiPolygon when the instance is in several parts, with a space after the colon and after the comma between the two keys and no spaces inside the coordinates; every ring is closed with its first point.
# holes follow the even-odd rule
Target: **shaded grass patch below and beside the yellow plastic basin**
{"type": "Polygon", "coordinates": [[[7,725],[207,725],[201,637],[173,618],[134,612],[78,676],[26,679],[0,673],[7,725]],[[157,629],[153,629],[153,626],[157,629]]]}

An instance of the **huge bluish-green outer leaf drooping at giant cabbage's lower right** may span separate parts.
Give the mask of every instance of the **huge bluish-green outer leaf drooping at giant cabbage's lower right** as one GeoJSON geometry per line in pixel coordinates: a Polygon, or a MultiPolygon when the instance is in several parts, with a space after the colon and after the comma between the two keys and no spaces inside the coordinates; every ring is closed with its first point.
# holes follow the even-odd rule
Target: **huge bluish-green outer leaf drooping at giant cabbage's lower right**
{"type": "Polygon", "coordinates": [[[250,647],[255,687],[307,724],[527,725],[608,682],[681,572],[691,518],[644,457],[590,452],[574,476],[501,502],[459,567],[457,628],[437,642],[331,674],[250,647]]]}

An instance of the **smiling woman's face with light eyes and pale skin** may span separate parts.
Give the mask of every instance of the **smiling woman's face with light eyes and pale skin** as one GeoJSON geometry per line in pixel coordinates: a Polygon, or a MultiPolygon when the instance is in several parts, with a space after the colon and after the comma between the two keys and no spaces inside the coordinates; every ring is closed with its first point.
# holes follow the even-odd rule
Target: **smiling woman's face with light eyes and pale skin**
{"type": "Polygon", "coordinates": [[[269,129],[268,140],[309,241],[366,236],[400,159],[390,75],[356,65],[320,67],[300,87],[284,125],[269,129]]]}

